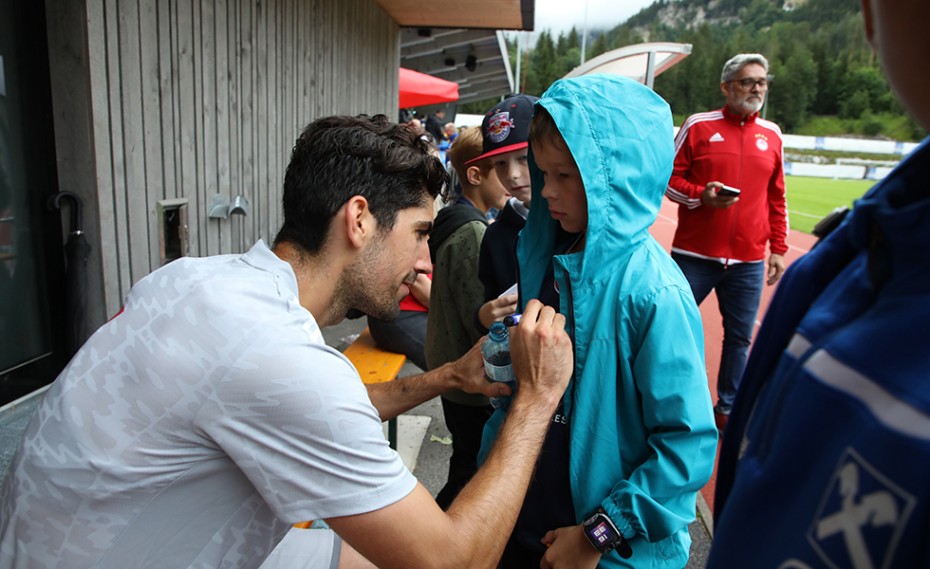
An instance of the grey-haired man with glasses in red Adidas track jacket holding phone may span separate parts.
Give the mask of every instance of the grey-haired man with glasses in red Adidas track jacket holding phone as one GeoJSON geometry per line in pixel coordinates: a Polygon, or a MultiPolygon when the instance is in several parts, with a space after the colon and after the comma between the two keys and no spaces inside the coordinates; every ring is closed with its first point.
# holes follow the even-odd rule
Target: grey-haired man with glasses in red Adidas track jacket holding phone
{"type": "Polygon", "coordinates": [[[781,130],[759,118],[768,61],[759,54],[731,58],[720,91],[723,109],[692,115],[678,131],[666,195],[679,204],[672,256],[698,304],[717,291],[723,316],[714,407],[722,430],[746,365],[762,281],[775,284],[785,269],[788,214],[781,130]]]}

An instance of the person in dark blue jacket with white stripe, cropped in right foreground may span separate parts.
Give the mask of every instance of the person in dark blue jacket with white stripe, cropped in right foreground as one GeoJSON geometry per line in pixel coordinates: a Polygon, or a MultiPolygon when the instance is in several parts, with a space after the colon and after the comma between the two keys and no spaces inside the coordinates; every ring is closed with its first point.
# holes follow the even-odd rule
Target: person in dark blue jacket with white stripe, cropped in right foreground
{"type": "MultiPolygon", "coordinates": [[[[930,3],[866,0],[930,129],[930,3]]],[[[708,567],[930,567],[930,139],[782,279],[721,449],[708,567]]]]}

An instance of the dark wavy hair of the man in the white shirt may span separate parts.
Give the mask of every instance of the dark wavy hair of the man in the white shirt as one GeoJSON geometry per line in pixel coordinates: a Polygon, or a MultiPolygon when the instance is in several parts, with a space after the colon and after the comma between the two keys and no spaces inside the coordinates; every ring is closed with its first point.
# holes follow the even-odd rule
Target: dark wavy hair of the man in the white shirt
{"type": "Polygon", "coordinates": [[[319,252],[333,216],[353,196],[367,199],[379,228],[388,231],[397,212],[429,203],[448,185],[442,163],[408,126],[384,115],[317,119],[291,152],[284,176],[284,225],[274,243],[319,252]]]}

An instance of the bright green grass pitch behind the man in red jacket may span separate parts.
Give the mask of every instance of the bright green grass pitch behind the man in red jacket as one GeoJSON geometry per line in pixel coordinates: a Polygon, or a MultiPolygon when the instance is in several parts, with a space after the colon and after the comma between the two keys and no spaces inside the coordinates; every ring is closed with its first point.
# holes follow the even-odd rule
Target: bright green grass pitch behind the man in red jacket
{"type": "Polygon", "coordinates": [[[788,220],[791,229],[810,233],[814,225],[839,206],[853,201],[875,185],[872,180],[834,180],[786,176],[788,220]]]}

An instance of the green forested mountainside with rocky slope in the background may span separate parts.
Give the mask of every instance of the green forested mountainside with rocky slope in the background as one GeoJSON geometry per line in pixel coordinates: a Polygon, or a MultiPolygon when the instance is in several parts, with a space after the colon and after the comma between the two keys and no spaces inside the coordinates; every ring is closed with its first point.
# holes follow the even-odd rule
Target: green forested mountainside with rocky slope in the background
{"type": "MultiPolygon", "coordinates": [[[[724,62],[736,53],[759,52],[774,76],[765,113],[785,132],[900,140],[924,135],[893,97],[865,41],[859,0],[657,0],[611,30],[590,33],[586,59],[644,41],[692,45],[690,56],[655,81],[676,122],[723,106],[724,62]]],[[[516,70],[515,42],[510,52],[516,70]]],[[[523,54],[518,84],[539,95],[577,66],[580,54],[578,30],[557,38],[543,30],[523,54]]],[[[467,112],[483,112],[490,104],[467,112]]]]}

